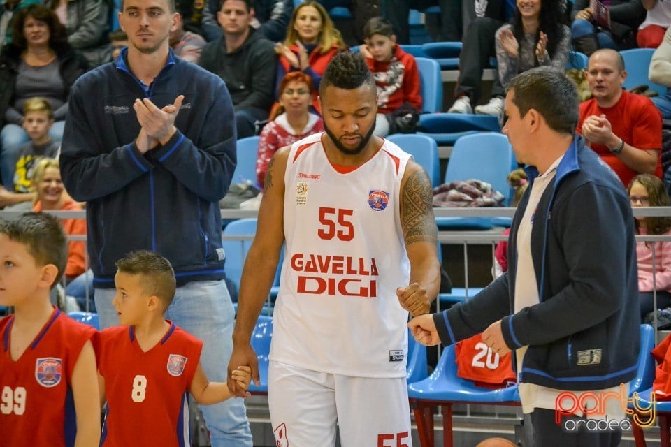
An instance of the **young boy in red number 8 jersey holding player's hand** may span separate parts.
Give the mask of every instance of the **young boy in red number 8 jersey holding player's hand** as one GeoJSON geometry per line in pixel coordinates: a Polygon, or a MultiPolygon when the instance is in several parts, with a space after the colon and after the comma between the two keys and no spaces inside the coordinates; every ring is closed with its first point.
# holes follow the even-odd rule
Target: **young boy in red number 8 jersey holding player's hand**
{"type": "MultiPolygon", "coordinates": [[[[101,445],[189,446],[187,393],[201,405],[231,393],[225,382],[205,376],[203,342],[164,319],[176,286],[170,263],[141,250],[116,266],[112,304],[122,326],[100,336],[101,401],[107,397],[108,404],[101,445]]],[[[246,390],[251,369],[238,368],[232,377],[246,390]]]]}

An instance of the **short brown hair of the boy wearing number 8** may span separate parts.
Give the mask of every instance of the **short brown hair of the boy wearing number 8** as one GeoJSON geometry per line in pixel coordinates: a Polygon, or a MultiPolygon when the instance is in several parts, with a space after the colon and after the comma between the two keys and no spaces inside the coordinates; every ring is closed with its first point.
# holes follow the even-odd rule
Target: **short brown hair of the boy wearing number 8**
{"type": "Polygon", "coordinates": [[[175,296],[177,284],[173,266],[163,256],[148,250],[131,251],[115,265],[119,272],[141,274],[143,291],[161,300],[167,309],[175,296]]]}

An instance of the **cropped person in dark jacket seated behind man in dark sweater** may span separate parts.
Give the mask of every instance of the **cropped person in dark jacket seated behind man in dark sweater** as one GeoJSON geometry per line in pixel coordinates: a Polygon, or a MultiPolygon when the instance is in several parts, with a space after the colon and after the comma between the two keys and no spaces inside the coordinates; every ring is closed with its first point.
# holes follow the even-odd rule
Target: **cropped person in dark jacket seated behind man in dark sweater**
{"type": "MultiPolygon", "coordinates": [[[[206,0],[203,10],[203,36],[208,42],[222,36],[222,28],[217,24],[220,0],[206,0]]],[[[269,41],[284,41],[289,18],[294,10],[294,0],[254,0],[252,2],[252,28],[269,41]]]]}

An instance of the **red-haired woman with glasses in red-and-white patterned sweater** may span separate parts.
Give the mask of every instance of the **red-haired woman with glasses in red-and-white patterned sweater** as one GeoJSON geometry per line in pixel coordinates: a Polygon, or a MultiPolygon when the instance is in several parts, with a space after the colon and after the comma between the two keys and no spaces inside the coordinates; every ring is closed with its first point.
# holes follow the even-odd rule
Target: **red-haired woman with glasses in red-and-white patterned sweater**
{"type": "Polygon", "coordinates": [[[259,139],[259,185],[266,182],[268,164],[280,147],[291,146],[312,133],[324,131],[322,118],[308,111],[314,90],[310,76],[301,71],[287,73],[280,81],[280,101],[259,139]]]}

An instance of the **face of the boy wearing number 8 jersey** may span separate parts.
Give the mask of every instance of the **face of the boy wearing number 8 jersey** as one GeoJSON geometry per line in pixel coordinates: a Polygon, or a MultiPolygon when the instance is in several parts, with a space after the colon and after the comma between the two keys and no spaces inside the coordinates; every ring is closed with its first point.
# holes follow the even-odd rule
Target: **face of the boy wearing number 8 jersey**
{"type": "Polygon", "coordinates": [[[147,315],[150,295],[145,293],[142,282],[141,274],[124,272],[115,274],[114,284],[117,293],[114,295],[112,304],[117,310],[119,322],[122,325],[136,325],[141,323],[147,315]]]}

